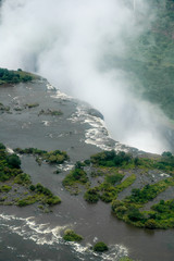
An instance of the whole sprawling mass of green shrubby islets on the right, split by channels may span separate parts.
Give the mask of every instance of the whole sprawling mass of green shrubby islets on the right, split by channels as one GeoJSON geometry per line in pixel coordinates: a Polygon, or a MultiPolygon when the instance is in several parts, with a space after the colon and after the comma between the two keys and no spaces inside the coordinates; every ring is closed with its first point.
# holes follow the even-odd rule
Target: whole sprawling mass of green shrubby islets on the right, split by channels
{"type": "MultiPolygon", "coordinates": [[[[174,227],[173,200],[161,201],[160,204],[153,206],[149,211],[141,210],[147,202],[157,198],[170,186],[174,186],[174,157],[171,152],[163,152],[161,157],[157,158],[133,158],[125,152],[103,151],[92,156],[91,162],[94,166],[101,170],[103,182],[94,188],[89,188],[85,192],[85,200],[92,203],[96,203],[99,199],[104,202],[112,202],[112,211],[116,217],[138,227],[174,227]],[[114,170],[120,170],[122,174],[116,174],[114,170]],[[116,199],[121,191],[136,181],[136,174],[133,172],[148,173],[151,170],[165,171],[165,173],[170,173],[171,177],[164,177],[156,184],[147,184],[141,189],[134,188],[130,196],[123,200],[116,199]],[[132,174],[122,182],[124,172],[127,171],[132,174]]],[[[92,177],[97,176],[92,175],[92,177]]]]}

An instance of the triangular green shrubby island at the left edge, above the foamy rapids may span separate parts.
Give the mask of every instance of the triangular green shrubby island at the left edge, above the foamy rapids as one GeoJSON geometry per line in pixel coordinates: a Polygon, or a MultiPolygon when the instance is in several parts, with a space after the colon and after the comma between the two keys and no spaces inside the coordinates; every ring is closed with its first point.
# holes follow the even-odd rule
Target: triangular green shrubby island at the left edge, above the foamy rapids
{"type": "Polygon", "coordinates": [[[18,207],[24,207],[35,202],[40,202],[44,206],[53,206],[61,202],[59,197],[54,196],[41,184],[38,183],[36,186],[33,185],[30,176],[23,173],[20,165],[21,160],[18,156],[9,154],[5,150],[5,146],[0,144],[0,182],[5,183],[8,181],[10,184],[0,186],[0,204],[16,204],[18,207]],[[20,187],[23,188],[22,194],[17,192],[17,188],[20,187]],[[14,196],[11,197],[9,191],[12,189],[14,195],[20,196],[18,198],[14,198],[14,196]],[[11,201],[8,201],[9,198],[11,201]]]}

